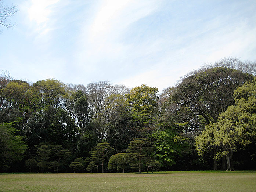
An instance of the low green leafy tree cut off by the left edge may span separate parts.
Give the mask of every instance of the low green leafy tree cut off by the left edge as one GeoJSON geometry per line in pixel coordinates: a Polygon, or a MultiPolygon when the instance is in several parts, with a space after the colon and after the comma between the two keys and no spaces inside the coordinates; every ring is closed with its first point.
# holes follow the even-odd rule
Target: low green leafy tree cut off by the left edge
{"type": "Polygon", "coordinates": [[[22,160],[27,149],[24,137],[16,136],[17,133],[12,123],[0,124],[0,169],[6,170],[11,164],[22,160]]]}

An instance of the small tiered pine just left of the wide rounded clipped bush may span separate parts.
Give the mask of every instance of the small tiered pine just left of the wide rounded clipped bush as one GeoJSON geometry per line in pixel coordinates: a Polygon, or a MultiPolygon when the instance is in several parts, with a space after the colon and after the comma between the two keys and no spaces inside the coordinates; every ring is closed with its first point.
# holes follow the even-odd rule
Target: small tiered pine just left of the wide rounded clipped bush
{"type": "Polygon", "coordinates": [[[109,158],[113,153],[113,148],[109,145],[109,143],[98,143],[91,151],[91,161],[97,162],[97,173],[99,162],[101,161],[102,173],[104,173],[104,162],[109,158]]]}

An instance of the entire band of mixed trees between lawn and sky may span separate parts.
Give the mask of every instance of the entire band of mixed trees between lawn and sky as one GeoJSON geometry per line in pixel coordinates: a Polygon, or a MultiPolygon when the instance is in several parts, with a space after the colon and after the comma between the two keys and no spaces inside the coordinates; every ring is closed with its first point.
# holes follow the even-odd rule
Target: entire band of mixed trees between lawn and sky
{"type": "Polygon", "coordinates": [[[158,92],[0,76],[0,171],[255,169],[256,63],[224,58],[158,92]]]}

